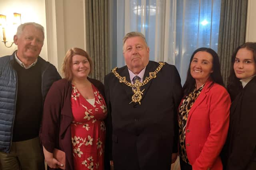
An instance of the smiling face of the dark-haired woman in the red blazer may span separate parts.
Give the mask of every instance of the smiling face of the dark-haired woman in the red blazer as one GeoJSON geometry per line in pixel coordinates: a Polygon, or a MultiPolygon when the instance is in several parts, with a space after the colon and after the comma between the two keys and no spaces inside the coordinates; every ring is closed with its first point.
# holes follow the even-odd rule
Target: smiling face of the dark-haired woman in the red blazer
{"type": "Polygon", "coordinates": [[[211,73],[213,72],[212,61],[212,55],[206,51],[198,51],[194,55],[190,63],[190,74],[196,80],[197,84],[204,84],[210,77],[211,73]]]}

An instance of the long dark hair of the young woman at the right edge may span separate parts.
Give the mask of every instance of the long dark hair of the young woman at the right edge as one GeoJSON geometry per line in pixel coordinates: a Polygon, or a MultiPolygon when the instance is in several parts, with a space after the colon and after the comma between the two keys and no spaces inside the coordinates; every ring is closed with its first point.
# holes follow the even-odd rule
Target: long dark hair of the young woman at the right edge
{"type": "Polygon", "coordinates": [[[230,94],[231,101],[233,101],[236,98],[236,95],[242,90],[242,83],[240,80],[236,77],[235,71],[234,71],[234,63],[236,59],[236,54],[239,49],[246,48],[253,52],[253,58],[256,62],[256,43],[247,42],[243,45],[240,45],[236,48],[236,51],[234,51],[232,57],[231,57],[231,67],[230,67],[230,76],[228,77],[228,92],[230,94]]]}

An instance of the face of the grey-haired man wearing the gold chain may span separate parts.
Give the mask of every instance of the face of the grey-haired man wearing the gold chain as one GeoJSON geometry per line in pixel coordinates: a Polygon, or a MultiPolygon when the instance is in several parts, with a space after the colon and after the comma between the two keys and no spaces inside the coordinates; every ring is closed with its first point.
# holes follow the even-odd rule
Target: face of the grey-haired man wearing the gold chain
{"type": "Polygon", "coordinates": [[[142,37],[130,37],[124,43],[124,60],[128,68],[138,74],[149,62],[149,48],[142,37]]]}

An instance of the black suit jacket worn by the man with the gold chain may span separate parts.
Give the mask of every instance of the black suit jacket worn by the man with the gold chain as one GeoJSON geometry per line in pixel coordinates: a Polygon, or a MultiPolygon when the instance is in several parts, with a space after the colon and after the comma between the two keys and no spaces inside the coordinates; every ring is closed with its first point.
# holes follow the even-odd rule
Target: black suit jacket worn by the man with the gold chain
{"type": "MultiPolygon", "coordinates": [[[[144,78],[158,63],[149,61],[144,78]]],[[[130,82],[128,67],[116,70],[130,82]]],[[[165,64],[145,86],[141,105],[131,103],[132,88],[113,73],[105,77],[108,108],[107,132],[115,170],[170,170],[172,152],[177,152],[177,107],[182,97],[175,66],[165,64]]]]}

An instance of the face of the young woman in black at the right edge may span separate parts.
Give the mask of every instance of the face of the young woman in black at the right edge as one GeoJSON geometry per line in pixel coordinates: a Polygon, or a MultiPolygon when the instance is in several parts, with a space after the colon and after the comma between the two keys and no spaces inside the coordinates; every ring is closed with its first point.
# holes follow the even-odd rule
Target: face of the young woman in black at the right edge
{"type": "Polygon", "coordinates": [[[245,79],[256,74],[256,63],[252,51],[246,48],[238,50],[234,63],[234,72],[239,79],[245,79]]]}

